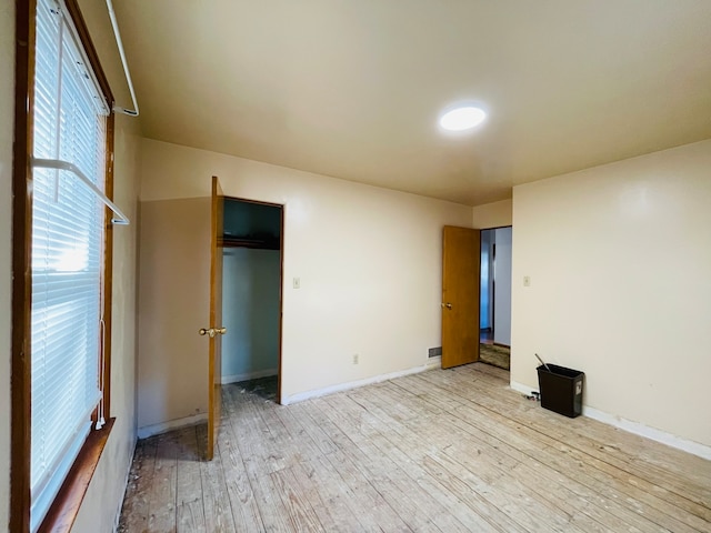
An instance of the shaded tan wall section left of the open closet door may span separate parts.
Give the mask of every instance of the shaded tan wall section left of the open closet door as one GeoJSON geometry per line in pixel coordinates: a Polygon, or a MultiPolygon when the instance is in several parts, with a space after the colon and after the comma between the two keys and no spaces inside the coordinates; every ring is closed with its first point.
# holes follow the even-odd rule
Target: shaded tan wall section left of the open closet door
{"type": "Polygon", "coordinates": [[[210,199],[141,202],[138,426],[208,412],[210,199]]]}

